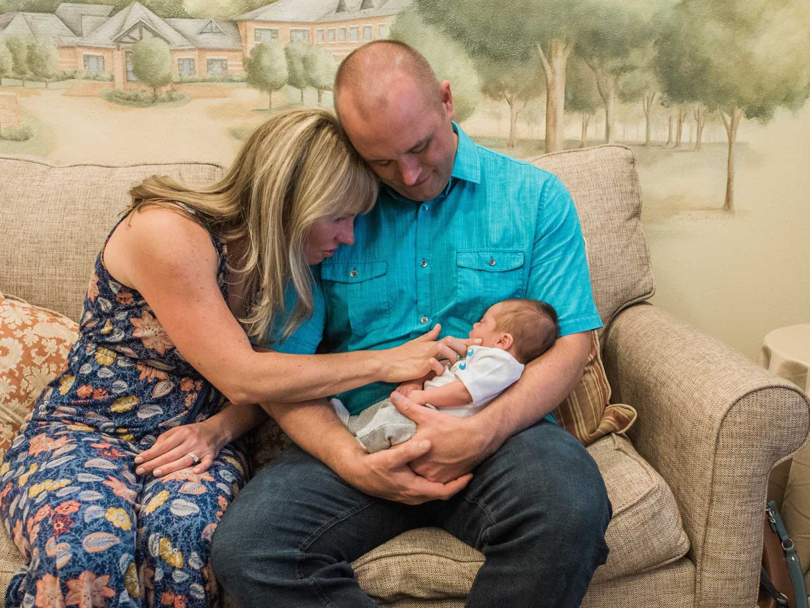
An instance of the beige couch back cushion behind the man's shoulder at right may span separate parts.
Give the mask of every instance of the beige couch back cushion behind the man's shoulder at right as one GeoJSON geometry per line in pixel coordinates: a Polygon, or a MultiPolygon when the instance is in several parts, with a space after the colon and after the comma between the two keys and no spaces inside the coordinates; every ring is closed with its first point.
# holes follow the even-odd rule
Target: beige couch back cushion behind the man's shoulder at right
{"type": "Polygon", "coordinates": [[[571,193],[586,241],[602,338],[616,314],[655,292],[642,229],[642,188],[633,152],[624,146],[567,150],[530,159],[556,173],[571,193]]]}

